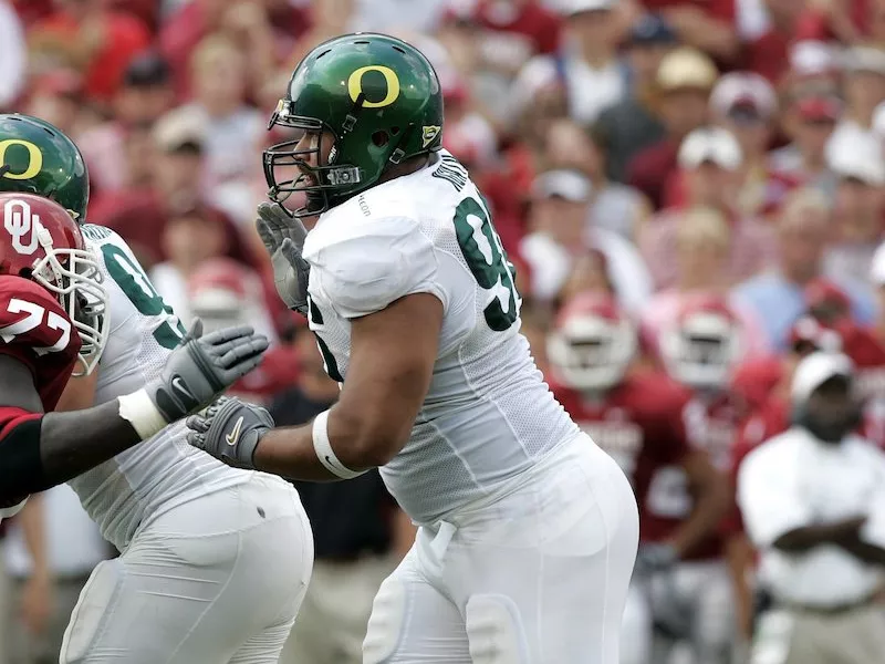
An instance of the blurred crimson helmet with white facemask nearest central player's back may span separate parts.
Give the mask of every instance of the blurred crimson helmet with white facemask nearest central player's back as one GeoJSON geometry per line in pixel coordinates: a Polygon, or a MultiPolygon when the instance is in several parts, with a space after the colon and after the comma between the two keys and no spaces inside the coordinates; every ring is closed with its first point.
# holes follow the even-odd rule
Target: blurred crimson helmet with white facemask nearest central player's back
{"type": "Polygon", "coordinates": [[[563,385],[602,391],[621,382],[637,346],[636,326],[610,295],[580,294],[548,338],[548,360],[563,385]]]}

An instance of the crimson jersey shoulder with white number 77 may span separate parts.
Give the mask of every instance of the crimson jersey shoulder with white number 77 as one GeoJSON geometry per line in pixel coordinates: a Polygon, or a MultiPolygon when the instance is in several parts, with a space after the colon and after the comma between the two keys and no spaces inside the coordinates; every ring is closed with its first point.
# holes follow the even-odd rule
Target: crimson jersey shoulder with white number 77
{"type": "Polygon", "coordinates": [[[31,370],[44,411],[59,403],[79,351],[80,335],[52,294],[28,279],[0,276],[0,353],[31,370]]]}

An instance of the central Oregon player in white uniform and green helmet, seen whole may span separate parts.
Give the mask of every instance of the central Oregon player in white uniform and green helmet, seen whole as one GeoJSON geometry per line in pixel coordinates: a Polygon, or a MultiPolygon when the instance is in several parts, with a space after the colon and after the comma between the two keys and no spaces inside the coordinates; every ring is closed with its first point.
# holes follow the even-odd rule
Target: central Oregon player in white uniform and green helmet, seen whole
{"type": "Polygon", "coordinates": [[[259,208],[259,232],[341,398],[278,429],[229,400],[188,421],[189,440],[305,480],[381,467],[420,528],[375,600],[367,664],[615,664],[633,492],[519,334],[487,204],[440,149],[431,65],[389,37],[331,40],[299,64],[271,124],[301,135],[264,154],[277,204],[259,208]],[[306,205],[287,214],[295,191],[306,205]],[[316,216],[308,234],[299,219],[316,216]]]}

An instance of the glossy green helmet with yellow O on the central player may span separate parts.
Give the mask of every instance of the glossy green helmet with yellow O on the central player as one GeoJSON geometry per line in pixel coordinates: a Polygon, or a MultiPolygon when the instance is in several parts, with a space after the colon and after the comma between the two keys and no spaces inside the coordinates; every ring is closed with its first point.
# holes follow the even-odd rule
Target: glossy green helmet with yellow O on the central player
{"type": "Polygon", "coordinates": [[[268,128],[273,126],[317,139],[306,149],[296,148],[299,136],[264,151],[271,200],[285,207],[292,193],[304,191],[306,206],[289,211],[319,215],[377,184],[393,166],[441,147],[439,80],[427,58],[402,40],[360,32],[337,37],[295,68],[268,128]],[[324,131],[334,143],[321,164],[324,131]],[[308,164],[311,155],[319,166],[308,164]]]}

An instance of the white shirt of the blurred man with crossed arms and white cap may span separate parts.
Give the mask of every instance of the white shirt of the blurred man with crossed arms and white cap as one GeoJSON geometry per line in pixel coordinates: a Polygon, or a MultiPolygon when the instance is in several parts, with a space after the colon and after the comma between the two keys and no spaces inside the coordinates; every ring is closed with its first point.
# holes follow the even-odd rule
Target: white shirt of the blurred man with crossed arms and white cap
{"type": "Polygon", "coordinates": [[[834,544],[805,553],[772,548],[781,536],[815,522],[868,513],[862,537],[885,546],[885,453],[857,436],[827,445],[793,427],[745,459],[738,501],[761,550],[760,574],[783,602],[836,606],[872,595],[882,573],[834,544]]]}

